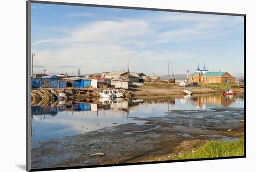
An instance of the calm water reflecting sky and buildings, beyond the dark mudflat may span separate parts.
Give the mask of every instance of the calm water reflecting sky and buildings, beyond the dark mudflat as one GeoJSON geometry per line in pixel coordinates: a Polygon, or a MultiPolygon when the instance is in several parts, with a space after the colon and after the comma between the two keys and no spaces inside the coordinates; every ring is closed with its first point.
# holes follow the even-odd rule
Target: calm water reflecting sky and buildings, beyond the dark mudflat
{"type": "Polygon", "coordinates": [[[144,124],[132,117],[164,117],[166,112],[183,110],[200,112],[215,107],[244,107],[243,97],[218,94],[157,99],[70,100],[38,102],[32,105],[32,140],[73,136],[120,124],[144,124]]]}

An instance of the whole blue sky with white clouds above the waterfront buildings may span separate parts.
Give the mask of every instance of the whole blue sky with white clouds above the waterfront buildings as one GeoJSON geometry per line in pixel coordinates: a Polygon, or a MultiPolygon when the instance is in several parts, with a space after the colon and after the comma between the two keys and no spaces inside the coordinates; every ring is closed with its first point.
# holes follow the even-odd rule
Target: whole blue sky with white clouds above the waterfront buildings
{"type": "Polygon", "coordinates": [[[127,70],[146,75],[243,73],[243,17],[37,4],[31,6],[34,73],[127,70]]]}

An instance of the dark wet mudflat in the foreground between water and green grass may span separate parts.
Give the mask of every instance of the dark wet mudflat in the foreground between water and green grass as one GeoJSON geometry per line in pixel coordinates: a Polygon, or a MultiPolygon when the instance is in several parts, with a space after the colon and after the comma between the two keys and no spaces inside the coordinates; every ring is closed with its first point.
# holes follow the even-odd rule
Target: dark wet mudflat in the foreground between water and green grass
{"type": "Polygon", "coordinates": [[[61,139],[33,141],[32,168],[171,160],[209,140],[243,137],[243,108],[175,110],[166,112],[163,117],[129,118],[135,122],[148,122],[106,127],[61,139]],[[229,129],[232,131],[228,132],[229,129]],[[103,152],[104,156],[90,157],[97,152],[103,152]]]}

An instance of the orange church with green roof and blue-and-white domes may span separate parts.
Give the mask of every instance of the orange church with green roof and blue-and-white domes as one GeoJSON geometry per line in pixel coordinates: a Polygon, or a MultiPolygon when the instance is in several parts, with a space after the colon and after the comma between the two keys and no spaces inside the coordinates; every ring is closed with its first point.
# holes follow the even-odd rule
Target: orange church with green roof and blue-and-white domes
{"type": "Polygon", "coordinates": [[[206,69],[205,65],[203,66],[202,70],[198,67],[194,73],[189,75],[189,82],[198,82],[198,83],[221,83],[221,84],[228,84],[228,83],[235,83],[236,79],[232,77],[228,72],[209,72],[206,69]]]}

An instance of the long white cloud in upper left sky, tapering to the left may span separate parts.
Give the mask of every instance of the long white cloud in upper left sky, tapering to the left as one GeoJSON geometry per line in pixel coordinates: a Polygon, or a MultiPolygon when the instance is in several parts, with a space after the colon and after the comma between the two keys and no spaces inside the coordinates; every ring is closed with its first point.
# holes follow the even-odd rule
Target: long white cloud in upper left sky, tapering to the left
{"type": "Polygon", "coordinates": [[[74,29],[71,35],[61,39],[37,40],[40,43],[99,43],[115,42],[122,38],[140,37],[150,32],[149,24],[140,20],[99,21],[74,29]]]}

